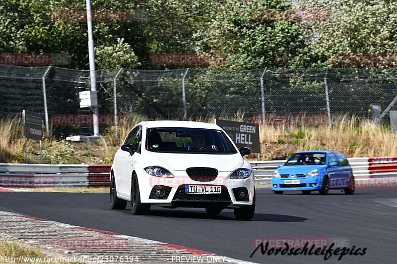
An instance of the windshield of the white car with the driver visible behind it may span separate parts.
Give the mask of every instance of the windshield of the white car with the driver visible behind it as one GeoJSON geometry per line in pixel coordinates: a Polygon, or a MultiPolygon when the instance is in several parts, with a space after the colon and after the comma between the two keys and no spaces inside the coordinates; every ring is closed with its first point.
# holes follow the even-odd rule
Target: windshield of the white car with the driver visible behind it
{"type": "Polygon", "coordinates": [[[148,128],[146,149],[175,153],[237,153],[223,131],[203,128],[148,128]]]}

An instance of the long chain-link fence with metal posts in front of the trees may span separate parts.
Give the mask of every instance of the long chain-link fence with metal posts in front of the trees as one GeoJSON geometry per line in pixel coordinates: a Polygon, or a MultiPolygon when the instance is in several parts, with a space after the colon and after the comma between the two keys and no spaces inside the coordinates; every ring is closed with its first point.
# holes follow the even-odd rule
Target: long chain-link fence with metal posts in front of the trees
{"type": "MultiPolygon", "coordinates": [[[[99,114],[115,117],[331,126],[346,114],[388,122],[397,109],[396,78],[395,68],[117,69],[96,71],[96,86],[99,114]]],[[[88,70],[0,65],[0,114],[40,112],[56,135],[91,135],[90,123],[56,120],[92,115],[78,96],[89,80],[88,70]]]]}

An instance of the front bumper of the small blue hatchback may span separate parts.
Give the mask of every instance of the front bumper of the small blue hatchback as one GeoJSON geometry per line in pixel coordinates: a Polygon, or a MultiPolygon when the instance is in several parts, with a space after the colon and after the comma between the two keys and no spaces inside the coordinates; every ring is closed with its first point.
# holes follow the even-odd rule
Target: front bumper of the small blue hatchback
{"type": "Polygon", "coordinates": [[[322,177],[302,177],[302,178],[271,178],[272,191],[316,191],[322,188],[322,177]],[[299,184],[285,184],[285,181],[299,180],[299,184]]]}

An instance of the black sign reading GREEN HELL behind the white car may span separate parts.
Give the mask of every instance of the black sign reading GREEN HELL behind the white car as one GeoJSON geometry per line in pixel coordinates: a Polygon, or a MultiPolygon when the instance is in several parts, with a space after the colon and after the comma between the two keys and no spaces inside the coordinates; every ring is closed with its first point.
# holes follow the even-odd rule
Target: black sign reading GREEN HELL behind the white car
{"type": "Polygon", "coordinates": [[[254,153],[261,153],[258,124],[220,119],[215,119],[215,123],[225,130],[238,148],[248,147],[254,153]]]}

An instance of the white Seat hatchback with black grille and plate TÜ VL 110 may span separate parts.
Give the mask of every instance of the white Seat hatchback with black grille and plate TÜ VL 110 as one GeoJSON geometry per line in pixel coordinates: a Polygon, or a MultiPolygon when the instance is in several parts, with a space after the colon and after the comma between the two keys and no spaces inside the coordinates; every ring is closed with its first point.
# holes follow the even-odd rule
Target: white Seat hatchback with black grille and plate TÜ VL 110
{"type": "Polygon", "coordinates": [[[145,214],[150,206],[255,212],[254,173],[229,136],[215,124],[147,121],[137,124],[116,152],[110,174],[112,209],[145,214]]]}

